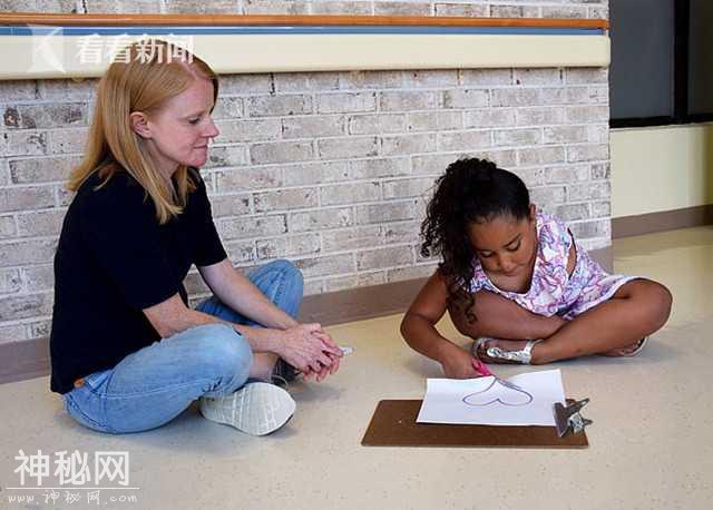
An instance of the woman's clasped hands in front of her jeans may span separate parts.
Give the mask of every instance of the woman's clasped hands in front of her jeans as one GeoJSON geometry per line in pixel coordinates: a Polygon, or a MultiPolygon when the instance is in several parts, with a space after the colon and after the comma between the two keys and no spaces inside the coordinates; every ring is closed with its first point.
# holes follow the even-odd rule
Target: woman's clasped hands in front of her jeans
{"type": "Polygon", "coordinates": [[[282,331],[277,354],[304,374],[314,373],[318,381],[339,369],[342,350],[320,324],[299,324],[282,331]]]}

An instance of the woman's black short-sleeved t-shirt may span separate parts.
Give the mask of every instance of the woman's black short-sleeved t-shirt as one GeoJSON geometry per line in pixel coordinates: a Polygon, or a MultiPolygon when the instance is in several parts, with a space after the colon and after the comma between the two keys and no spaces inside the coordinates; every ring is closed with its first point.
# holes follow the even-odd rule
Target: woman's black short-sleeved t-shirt
{"type": "Polygon", "coordinates": [[[160,340],[144,308],[180,294],[192,264],[226,258],[213,224],[205,183],[189,170],[196,189],[184,212],[158,224],[154,203],[127,173],[101,188],[95,173],[78,189],[55,255],[55,310],[50,335],[58,393],[94,372],[160,340]]]}

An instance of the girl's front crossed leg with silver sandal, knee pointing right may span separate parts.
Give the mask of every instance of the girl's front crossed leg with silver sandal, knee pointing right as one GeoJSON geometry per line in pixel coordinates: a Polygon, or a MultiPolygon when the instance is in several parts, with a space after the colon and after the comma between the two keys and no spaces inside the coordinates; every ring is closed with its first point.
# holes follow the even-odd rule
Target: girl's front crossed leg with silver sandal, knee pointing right
{"type": "MultiPolygon", "coordinates": [[[[531,363],[549,363],[587,354],[611,355],[613,351],[629,347],[666,323],[671,304],[671,293],[663,285],[648,279],[629,282],[611,300],[588,310],[536,344],[531,363]]],[[[484,346],[484,351],[491,345],[504,351],[517,351],[524,347],[525,342],[498,340],[484,346]]],[[[486,361],[498,361],[489,360],[485,352],[481,355],[486,361]]]]}

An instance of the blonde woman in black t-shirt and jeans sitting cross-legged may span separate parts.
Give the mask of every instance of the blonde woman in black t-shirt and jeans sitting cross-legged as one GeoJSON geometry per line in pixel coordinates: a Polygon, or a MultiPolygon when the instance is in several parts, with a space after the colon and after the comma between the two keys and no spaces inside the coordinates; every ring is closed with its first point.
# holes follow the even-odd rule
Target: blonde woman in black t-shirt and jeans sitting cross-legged
{"type": "Polygon", "coordinates": [[[216,75],[158,40],[123,55],[99,82],[68,186],[76,196],[55,257],[51,390],[101,432],[160,426],[199,399],[211,420],[270,433],[295,404],[261,381],[322,380],[342,353],[319,324],[297,323],[294,265],[245,277],[221,244],[198,171],[218,135],[216,75]],[[183,286],[193,264],[214,294],[196,310],[183,286]]]}

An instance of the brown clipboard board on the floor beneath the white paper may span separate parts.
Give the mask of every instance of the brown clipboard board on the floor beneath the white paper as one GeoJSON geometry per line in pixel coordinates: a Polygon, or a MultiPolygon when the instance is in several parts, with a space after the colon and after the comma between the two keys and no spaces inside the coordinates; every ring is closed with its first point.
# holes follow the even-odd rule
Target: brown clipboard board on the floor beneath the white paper
{"type": "Polygon", "coordinates": [[[482,447],[574,449],[589,445],[585,432],[557,437],[554,426],[417,423],[421,400],[382,400],[361,443],[364,447],[482,447]]]}

